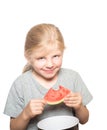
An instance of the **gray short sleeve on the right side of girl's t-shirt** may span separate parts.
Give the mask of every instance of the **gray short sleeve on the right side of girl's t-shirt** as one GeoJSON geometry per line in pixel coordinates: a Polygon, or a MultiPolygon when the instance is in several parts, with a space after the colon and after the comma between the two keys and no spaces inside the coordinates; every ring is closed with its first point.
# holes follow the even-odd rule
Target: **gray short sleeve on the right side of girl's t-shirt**
{"type": "Polygon", "coordinates": [[[87,105],[92,100],[92,95],[83,82],[81,76],[77,73],[76,80],[75,80],[75,91],[80,92],[82,95],[82,102],[83,105],[87,105]]]}

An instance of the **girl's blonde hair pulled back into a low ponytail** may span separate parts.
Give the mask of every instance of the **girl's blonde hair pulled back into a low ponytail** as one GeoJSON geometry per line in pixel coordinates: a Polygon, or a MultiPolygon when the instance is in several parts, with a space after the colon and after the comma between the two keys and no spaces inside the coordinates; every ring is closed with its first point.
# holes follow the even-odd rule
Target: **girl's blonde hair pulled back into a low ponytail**
{"type": "MultiPolygon", "coordinates": [[[[54,44],[57,45],[61,51],[64,51],[64,39],[58,27],[53,24],[38,24],[32,27],[26,36],[24,53],[26,56],[29,56],[34,49],[47,45],[47,47],[52,48],[54,44]],[[47,39],[47,41],[43,42],[45,39],[47,39]]],[[[23,73],[30,69],[32,69],[32,66],[26,64],[23,73]]]]}

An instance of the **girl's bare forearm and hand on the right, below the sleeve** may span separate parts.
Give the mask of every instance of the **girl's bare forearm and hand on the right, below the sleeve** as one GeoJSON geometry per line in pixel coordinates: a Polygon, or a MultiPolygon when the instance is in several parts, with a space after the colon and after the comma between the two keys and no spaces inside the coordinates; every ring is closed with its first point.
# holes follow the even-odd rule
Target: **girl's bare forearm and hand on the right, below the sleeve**
{"type": "Polygon", "coordinates": [[[89,118],[88,109],[82,104],[82,97],[80,93],[71,92],[64,99],[64,103],[68,107],[72,107],[75,112],[75,116],[79,119],[81,124],[85,124],[89,118]]]}

